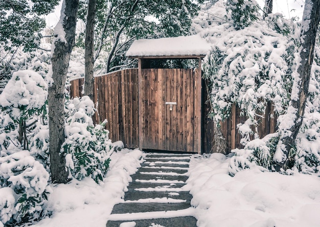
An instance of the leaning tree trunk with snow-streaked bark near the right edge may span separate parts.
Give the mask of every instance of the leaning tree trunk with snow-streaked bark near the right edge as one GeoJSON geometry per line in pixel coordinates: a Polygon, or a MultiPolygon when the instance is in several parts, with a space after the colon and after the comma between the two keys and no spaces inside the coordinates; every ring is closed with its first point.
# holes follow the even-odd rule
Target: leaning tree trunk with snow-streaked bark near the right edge
{"type": "Polygon", "coordinates": [[[277,170],[284,170],[293,166],[294,158],[290,159],[290,152],[294,150],[295,139],[302,125],[306,100],[309,90],[311,65],[316,33],[319,25],[320,1],[306,0],[301,26],[301,47],[299,51],[298,69],[293,73],[291,101],[285,119],[280,123],[280,142],[275,154],[277,170]],[[288,126],[288,121],[293,122],[288,126]],[[284,145],[284,146],[283,146],[284,145]],[[293,149],[293,150],[292,150],[293,149]]]}

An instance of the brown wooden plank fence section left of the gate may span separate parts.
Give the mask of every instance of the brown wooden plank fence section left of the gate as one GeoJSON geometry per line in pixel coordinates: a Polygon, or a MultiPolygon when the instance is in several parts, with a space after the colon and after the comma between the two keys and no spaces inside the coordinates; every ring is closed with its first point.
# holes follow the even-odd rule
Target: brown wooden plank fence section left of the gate
{"type": "MultiPolygon", "coordinates": [[[[71,81],[70,96],[81,97],[83,79],[71,81]]],[[[127,148],[139,146],[138,69],[126,69],[95,77],[98,101],[96,122],[107,119],[112,141],[121,140],[127,148]]]]}

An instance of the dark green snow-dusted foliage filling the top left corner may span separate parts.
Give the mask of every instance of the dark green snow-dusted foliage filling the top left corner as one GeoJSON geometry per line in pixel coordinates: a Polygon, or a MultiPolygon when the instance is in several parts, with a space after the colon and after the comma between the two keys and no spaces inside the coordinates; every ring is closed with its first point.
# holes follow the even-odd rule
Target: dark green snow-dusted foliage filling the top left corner
{"type": "Polygon", "coordinates": [[[58,5],[58,0],[5,0],[0,2],[0,43],[5,49],[39,47],[41,30],[45,27],[42,15],[58,5]],[[30,3],[31,2],[31,3],[30,3]]]}

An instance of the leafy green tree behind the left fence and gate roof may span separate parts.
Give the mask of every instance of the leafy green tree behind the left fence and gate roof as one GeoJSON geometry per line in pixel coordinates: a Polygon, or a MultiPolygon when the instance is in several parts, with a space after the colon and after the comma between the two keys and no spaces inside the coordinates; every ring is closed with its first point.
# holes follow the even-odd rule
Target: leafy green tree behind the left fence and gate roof
{"type": "MultiPolygon", "coordinates": [[[[124,55],[133,39],[189,34],[191,19],[202,2],[97,0],[95,60],[101,51],[107,52],[105,72],[117,70],[131,63],[124,55]]],[[[83,20],[87,4],[86,0],[80,0],[79,17],[83,20]]]]}

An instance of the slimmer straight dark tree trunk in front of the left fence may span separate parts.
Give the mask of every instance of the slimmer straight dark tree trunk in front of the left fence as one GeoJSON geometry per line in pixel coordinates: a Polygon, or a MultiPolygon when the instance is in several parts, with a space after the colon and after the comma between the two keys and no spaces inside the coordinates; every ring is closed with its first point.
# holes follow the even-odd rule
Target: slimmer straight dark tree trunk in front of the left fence
{"type": "Polygon", "coordinates": [[[97,0],[89,0],[85,26],[84,95],[94,100],[94,28],[97,0]]]}

